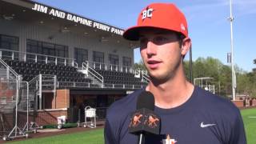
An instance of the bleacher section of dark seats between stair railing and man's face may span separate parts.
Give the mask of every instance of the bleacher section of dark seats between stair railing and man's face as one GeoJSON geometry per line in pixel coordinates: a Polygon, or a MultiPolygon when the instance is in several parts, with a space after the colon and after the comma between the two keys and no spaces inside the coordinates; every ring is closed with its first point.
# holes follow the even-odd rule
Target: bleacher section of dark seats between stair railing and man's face
{"type": "Polygon", "coordinates": [[[148,83],[148,81],[143,80],[143,73],[139,72],[136,77],[135,70],[129,66],[85,62],[82,64],[82,70],[85,70],[87,75],[94,71],[93,75],[98,75],[98,79],[102,82],[102,87],[105,88],[140,89],[148,83]]]}

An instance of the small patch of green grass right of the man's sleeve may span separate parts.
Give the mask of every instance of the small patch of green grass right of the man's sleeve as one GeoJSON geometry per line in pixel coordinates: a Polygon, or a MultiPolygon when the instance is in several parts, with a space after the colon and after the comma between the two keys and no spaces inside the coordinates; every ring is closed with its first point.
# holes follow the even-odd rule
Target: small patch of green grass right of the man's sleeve
{"type": "Polygon", "coordinates": [[[241,110],[248,144],[256,143],[256,109],[241,110]],[[250,118],[251,117],[251,118],[250,118]]]}

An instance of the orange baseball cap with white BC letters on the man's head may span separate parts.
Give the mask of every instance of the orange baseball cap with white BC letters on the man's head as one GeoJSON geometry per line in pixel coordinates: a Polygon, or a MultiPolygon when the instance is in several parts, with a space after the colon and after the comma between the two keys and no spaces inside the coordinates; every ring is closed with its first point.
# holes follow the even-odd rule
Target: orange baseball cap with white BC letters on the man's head
{"type": "Polygon", "coordinates": [[[186,18],[172,3],[152,3],[146,6],[138,15],[137,26],[130,27],[122,36],[131,41],[138,41],[139,30],[143,28],[172,30],[188,37],[186,18]]]}

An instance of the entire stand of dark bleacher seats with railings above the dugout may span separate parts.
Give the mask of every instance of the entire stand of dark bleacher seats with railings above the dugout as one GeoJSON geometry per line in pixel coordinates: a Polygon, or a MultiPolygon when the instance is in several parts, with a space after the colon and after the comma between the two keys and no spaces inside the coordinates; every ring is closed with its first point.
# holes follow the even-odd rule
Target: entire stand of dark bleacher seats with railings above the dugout
{"type": "Polygon", "coordinates": [[[30,82],[38,74],[56,76],[57,89],[69,87],[140,89],[147,84],[142,76],[135,77],[135,71],[129,66],[84,62],[81,70],[72,58],[2,49],[0,49],[0,58],[16,73],[22,75],[22,81],[30,82]]]}

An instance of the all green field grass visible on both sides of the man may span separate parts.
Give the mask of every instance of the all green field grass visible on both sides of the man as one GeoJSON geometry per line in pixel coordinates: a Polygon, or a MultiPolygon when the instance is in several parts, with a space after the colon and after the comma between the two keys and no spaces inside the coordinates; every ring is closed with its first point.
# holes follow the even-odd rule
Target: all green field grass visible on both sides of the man
{"type": "MultiPolygon", "coordinates": [[[[256,109],[241,110],[243,122],[246,129],[248,144],[256,143],[256,109]],[[251,118],[250,118],[251,117],[251,118]]],[[[103,144],[103,129],[83,131],[72,134],[62,134],[46,138],[31,138],[25,141],[8,142],[13,144],[103,144]]]]}

